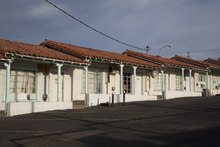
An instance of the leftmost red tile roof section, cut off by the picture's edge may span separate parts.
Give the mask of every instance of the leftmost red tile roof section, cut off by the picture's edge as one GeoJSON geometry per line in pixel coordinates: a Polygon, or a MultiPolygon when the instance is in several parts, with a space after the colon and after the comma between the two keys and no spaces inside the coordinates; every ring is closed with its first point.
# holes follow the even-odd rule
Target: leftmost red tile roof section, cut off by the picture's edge
{"type": "Polygon", "coordinates": [[[0,56],[6,58],[7,53],[14,54],[16,56],[19,55],[21,57],[26,56],[44,60],[59,60],[61,62],[74,64],[86,63],[79,58],[40,45],[32,45],[17,41],[0,39],[0,56]]]}

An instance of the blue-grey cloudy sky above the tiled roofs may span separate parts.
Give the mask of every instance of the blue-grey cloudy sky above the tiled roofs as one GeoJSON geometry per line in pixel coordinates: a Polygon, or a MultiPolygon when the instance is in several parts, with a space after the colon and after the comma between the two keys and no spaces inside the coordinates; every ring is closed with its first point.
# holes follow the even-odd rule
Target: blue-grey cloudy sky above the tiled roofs
{"type": "MultiPolygon", "coordinates": [[[[220,0],[50,0],[97,30],[164,57],[220,57],[220,0]],[[168,47],[171,46],[171,48],[168,47]],[[187,54],[189,53],[189,54],[187,54]]],[[[81,25],[44,0],[1,0],[0,38],[137,50],[81,25]]],[[[146,53],[146,52],[145,52],[146,53]]]]}

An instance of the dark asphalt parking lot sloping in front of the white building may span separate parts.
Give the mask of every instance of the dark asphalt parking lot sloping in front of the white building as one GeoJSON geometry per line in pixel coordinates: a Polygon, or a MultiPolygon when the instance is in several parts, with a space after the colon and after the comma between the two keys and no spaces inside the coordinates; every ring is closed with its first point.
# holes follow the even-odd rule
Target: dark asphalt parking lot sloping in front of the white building
{"type": "Polygon", "coordinates": [[[0,118],[0,146],[220,146],[220,97],[0,118]]]}

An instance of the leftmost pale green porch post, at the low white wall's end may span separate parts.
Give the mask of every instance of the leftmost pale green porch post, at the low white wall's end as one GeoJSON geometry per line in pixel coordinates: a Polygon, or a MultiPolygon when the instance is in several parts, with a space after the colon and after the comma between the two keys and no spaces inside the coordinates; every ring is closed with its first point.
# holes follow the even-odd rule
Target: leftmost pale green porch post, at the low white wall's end
{"type": "Polygon", "coordinates": [[[9,60],[9,62],[8,62],[8,63],[5,63],[4,66],[6,67],[5,114],[8,115],[8,107],[7,107],[7,104],[8,104],[8,102],[10,102],[10,99],[9,99],[9,90],[10,90],[11,61],[9,60]]]}

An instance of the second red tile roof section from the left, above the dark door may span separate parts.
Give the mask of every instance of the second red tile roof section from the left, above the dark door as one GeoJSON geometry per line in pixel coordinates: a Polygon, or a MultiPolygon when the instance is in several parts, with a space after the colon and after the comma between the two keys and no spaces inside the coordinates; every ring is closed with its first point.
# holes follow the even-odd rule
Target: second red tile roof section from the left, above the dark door
{"type": "Polygon", "coordinates": [[[43,43],[41,43],[41,45],[62,51],[64,53],[71,54],[76,57],[80,57],[82,59],[92,59],[93,61],[95,60],[95,61],[107,61],[114,63],[131,64],[136,66],[144,66],[148,68],[160,68],[160,66],[154,63],[132,58],[124,54],[108,52],[104,50],[75,46],[75,45],[61,43],[47,39],[43,43]]]}

